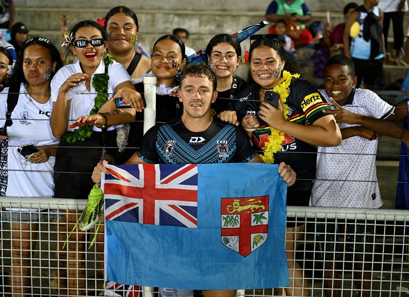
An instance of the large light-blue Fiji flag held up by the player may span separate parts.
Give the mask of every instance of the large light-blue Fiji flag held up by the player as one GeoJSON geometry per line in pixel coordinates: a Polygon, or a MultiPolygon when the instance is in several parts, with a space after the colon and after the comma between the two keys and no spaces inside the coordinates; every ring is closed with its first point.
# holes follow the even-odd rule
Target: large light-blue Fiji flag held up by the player
{"type": "Polygon", "coordinates": [[[107,280],[202,290],[289,285],[287,186],[277,165],[106,167],[107,280]]]}

